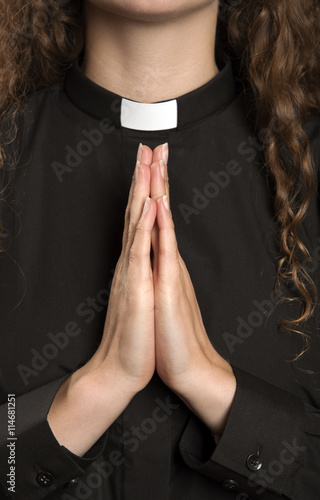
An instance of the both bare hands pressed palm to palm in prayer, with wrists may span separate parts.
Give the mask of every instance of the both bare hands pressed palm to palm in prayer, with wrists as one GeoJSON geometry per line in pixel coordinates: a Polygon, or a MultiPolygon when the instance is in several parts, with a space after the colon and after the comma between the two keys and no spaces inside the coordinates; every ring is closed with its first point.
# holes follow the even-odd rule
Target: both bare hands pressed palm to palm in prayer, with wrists
{"type": "Polygon", "coordinates": [[[216,441],[232,406],[235,376],[207,336],[178,250],[167,160],[167,144],[154,151],[139,147],[100,345],[61,385],[48,413],[58,441],[78,455],[115,421],[155,370],[216,441]]]}

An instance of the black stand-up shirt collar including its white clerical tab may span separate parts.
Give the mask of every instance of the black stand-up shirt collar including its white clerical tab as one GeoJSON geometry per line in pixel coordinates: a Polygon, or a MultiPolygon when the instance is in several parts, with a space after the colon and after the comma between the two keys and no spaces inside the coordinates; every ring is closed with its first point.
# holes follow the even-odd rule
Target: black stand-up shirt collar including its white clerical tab
{"type": "Polygon", "coordinates": [[[186,94],[155,103],[131,101],[97,85],[80,69],[81,54],[64,82],[68,98],[85,113],[110,119],[117,127],[134,130],[181,129],[225,107],[235,97],[230,61],[221,63],[220,72],[207,83],[186,94]]]}

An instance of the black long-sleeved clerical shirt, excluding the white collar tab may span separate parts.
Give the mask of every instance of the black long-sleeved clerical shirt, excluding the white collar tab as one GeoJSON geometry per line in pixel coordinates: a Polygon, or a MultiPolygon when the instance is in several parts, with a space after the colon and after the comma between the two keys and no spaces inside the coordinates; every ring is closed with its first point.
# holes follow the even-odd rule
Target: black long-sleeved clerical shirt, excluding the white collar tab
{"type": "MultiPolygon", "coordinates": [[[[296,317],[299,305],[273,294],[279,248],[264,146],[247,124],[232,67],[220,65],[217,77],[177,96],[176,129],[121,127],[120,101],[76,61],[62,85],[25,101],[11,146],[20,158],[2,172],[2,488],[9,472],[7,400],[15,394],[17,500],[315,500],[319,311],[305,325],[312,347],[295,366],[290,360],[303,346],[301,336],[278,323],[296,317]],[[179,250],[208,336],[234,368],[236,397],[215,445],[155,374],[77,457],[59,445],[46,415],[62,382],[99,345],[138,144],[166,141],[179,250]],[[252,454],[262,461],[256,472],[247,467],[252,454]],[[49,473],[52,484],[40,486],[39,473],[49,473]]],[[[320,118],[309,115],[304,128],[318,175],[320,118]]],[[[300,231],[317,286],[319,222],[315,195],[300,231]]]]}

